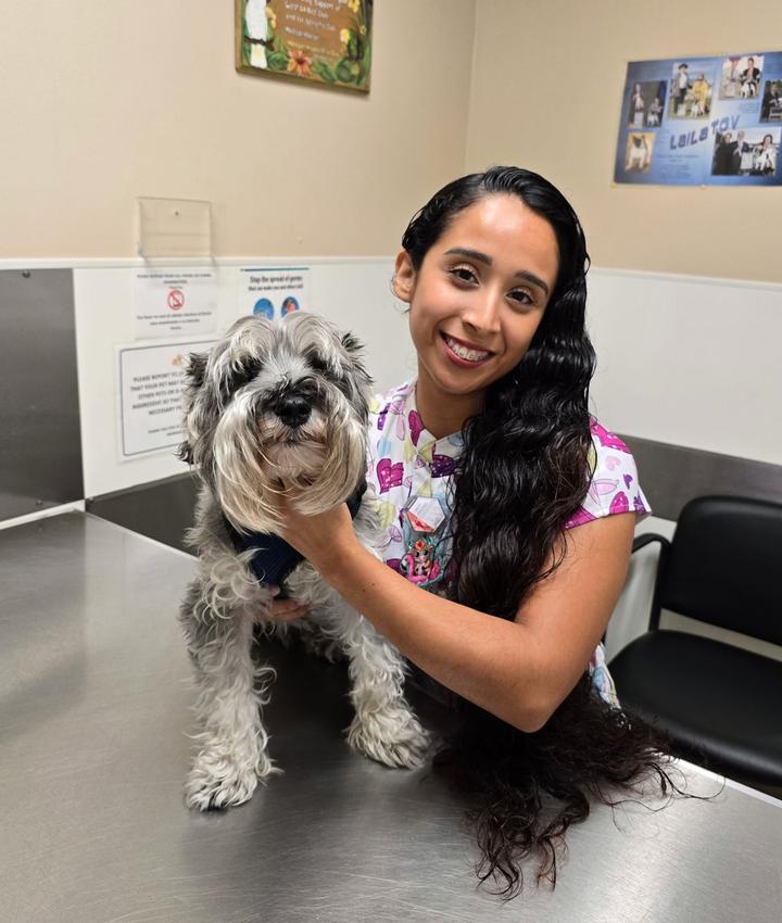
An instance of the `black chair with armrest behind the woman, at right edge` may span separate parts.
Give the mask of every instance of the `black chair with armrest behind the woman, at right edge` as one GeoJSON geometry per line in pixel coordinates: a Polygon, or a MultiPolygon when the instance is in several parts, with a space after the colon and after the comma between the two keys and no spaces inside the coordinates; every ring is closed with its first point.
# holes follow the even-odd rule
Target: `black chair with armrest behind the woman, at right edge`
{"type": "Polygon", "coordinates": [[[609,663],[622,708],[676,753],[726,775],[782,785],[782,661],[659,629],[660,609],[782,645],[782,504],[704,496],[661,545],[648,631],[609,663]]]}

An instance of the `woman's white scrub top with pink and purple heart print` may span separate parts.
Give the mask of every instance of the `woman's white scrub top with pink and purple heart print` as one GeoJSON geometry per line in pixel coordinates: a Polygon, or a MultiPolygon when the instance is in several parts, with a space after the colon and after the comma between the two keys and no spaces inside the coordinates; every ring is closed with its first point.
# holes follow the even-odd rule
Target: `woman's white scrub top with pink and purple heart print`
{"type": "MultiPolygon", "coordinates": [[[[651,511],[627,445],[595,419],[591,429],[592,480],[567,529],[616,513],[651,511]]],[[[434,593],[444,593],[453,578],[449,486],[462,447],[462,433],[436,439],[424,428],[415,406],[415,381],[373,400],[367,481],[378,497],[381,555],[398,573],[434,593]]],[[[617,705],[602,644],[592,657],[590,672],[598,694],[617,705]]]]}

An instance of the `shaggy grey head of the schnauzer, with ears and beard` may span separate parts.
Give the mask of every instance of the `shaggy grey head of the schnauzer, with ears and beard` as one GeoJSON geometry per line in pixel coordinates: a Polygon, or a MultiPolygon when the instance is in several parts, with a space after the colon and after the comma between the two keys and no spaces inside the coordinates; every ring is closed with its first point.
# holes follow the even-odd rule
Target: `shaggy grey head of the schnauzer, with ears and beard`
{"type": "Polygon", "coordinates": [[[237,529],[276,531],[280,493],[314,515],[355,490],[370,385],[357,342],[324,318],[242,318],[209,355],[190,357],[180,457],[237,529]]]}

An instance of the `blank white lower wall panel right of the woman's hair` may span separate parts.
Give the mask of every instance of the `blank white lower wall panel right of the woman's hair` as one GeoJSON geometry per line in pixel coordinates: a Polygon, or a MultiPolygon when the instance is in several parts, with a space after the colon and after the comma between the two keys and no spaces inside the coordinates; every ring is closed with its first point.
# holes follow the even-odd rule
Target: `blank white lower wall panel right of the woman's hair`
{"type": "Polygon", "coordinates": [[[589,327],[609,429],[782,464],[782,286],[594,269],[589,327]]]}

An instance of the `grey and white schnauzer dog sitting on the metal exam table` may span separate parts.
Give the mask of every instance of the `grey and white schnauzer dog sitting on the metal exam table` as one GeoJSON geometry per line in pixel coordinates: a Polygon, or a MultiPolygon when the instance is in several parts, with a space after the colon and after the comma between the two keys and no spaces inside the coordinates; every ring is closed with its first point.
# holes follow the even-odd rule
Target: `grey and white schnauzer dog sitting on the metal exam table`
{"type": "Polygon", "coordinates": [[[371,384],[360,352],[350,334],[295,313],[239,320],[209,355],[190,357],[180,456],[202,488],[188,535],[198,577],[180,611],[199,691],[189,807],[240,805],[280,771],[261,717],[275,671],[251,656],[258,624],[283,637],[298,628],[311,648],[346,656],[354,750],[392,767],[424,760],[429,736],[404,698],[404,658],[277,534],[280,493],[304,515],[352,500],[356,534],[378,553],[371,497],[356,502],[366,486],[371,384]],[[310,603],[311,614],[275,623],[274,583],[310,603]]]}

